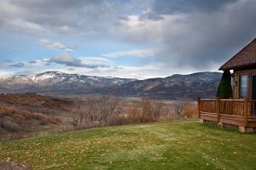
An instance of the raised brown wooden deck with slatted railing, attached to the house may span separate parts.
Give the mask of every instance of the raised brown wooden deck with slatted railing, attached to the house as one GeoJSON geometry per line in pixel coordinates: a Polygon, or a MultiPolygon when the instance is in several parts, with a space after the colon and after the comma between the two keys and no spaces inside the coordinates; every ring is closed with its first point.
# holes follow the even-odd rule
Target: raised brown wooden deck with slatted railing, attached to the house
{"type": "Polygon", "coordinates": [[[252,132],[256,127],[256,100],[198,99],[198,113],[202,121],[235,125],[252,132]]]}

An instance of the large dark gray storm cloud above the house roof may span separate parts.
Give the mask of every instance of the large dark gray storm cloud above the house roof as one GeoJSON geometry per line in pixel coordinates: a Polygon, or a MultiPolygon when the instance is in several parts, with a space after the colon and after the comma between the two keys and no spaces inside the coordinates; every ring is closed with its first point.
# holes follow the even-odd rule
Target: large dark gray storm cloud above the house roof
{"type": "Polygon", "coordinates": [[[175,59],[181,66],[202,70],[214,63],[220,66],[256,37],[255,8],[256,2],[248,0],[230,4],[224,10],[215,8],[213,14],[187,15],[177,23],[180,31],[166,31],[166,52],[160,59],[175,59]],[[175,58],[170,59],[170,54],[175,58]]]}

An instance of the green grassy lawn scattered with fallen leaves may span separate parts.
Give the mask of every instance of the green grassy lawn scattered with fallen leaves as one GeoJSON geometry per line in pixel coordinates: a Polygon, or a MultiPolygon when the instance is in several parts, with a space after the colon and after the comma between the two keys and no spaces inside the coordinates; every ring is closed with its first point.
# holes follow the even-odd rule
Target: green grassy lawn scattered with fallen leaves
{"type": "Polygon", "coordinates": [[[0,143],[32,169],[256,169],[256,135],[199,122],[102,127],[0,143]]]}

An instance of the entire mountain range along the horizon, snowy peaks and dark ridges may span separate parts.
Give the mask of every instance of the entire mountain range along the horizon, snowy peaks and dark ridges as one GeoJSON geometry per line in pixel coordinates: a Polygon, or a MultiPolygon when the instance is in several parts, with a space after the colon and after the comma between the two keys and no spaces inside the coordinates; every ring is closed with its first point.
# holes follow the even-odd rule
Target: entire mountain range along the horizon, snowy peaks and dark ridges
{"type": "Polygon", "coordinates": [[[0,79],[0,94],[111,94],[123,97],[149,96],[153,99],[197,99],[216,96],[222,74],[197,72],[145,80],[118,77],[91,77],[46,71],[32,76],[0,79]]]}

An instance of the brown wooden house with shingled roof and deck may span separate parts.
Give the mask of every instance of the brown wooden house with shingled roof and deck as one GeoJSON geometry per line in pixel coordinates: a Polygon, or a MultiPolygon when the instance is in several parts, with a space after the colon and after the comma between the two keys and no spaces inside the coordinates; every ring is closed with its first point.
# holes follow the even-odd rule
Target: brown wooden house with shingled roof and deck
{"type": "Polygon", "coordinates": [[[218,127],[235,127],[241,132],[256,131],[256,38],[222,65],[233,71],[232,99],[199,99],[201,122],[218,127]]]}

